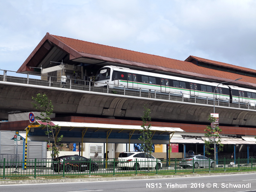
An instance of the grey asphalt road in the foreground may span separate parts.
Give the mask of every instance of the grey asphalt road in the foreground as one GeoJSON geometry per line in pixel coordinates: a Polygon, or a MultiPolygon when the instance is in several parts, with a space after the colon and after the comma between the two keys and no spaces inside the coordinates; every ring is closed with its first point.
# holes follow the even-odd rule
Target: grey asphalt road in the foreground
{"type": "Polygon", "coordinates": [[[256,192],[256,174],[0,185],[1,192],[256,192]]]}

